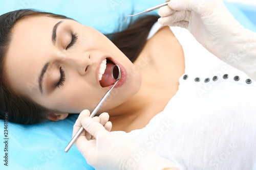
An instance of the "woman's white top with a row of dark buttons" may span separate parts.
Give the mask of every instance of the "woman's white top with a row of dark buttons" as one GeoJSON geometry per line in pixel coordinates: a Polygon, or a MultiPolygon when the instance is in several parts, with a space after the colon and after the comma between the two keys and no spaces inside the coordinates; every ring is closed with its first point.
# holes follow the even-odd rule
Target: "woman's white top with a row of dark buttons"
{"type": "MultiPolygon", "coordinates": [[[[148,39],[161,27],[155,23],[148,39]]],[[[170,29],[185,56],[178,92],[145,128],[112,133],[181,169],[256,169],[256,82],[209,53],[186,29],[170,29]]]]}

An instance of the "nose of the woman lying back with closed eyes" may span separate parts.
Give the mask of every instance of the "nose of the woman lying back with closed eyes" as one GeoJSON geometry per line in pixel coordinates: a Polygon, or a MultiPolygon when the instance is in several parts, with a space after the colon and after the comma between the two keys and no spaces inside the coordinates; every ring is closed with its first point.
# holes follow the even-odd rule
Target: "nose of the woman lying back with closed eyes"
{"type": "Polygon", "coordinates": [[[92,64],[89,53],[73,54],[67,56],[66,64],[73,69],[76,69],[80,75],[86,74],[88,67],[92,64]]]}

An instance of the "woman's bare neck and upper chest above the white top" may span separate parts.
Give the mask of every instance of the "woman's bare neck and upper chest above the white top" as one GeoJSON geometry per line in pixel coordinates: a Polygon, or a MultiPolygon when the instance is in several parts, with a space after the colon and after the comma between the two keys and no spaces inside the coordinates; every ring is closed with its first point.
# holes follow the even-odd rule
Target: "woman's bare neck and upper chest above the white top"
{"type": "Polygon", "coordinates": [[[147,41],[134,65],[141,72],[141,87],[132,98],[109,110],[112,131],[142,129],[163,111],[176,94],[179,78],[185,70],[182,47],[165,27],[147,41]]]}

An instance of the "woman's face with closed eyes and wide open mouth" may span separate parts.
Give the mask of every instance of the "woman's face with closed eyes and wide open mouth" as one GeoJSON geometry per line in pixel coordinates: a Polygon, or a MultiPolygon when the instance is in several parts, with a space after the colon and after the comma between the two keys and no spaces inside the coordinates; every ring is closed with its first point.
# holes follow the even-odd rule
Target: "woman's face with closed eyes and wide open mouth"
{"type": "Polygon", "coordinates": [[[8,83],[48,109],[63,113],[92,111],[113,81],[113,64],[122,77],[99,112],[111,110],[140,88],[133,63],[103,34],[69,19],[27,17],[17,22],[6,56],[8,83]],[[107,64],[102,61],[107,59],[107,64]],[[101,65],[101,66],[100,66],[101,65]],[[100,79],[99,69],[106,65],[100,79]],[[106,87],[105,87],[106,86],[106,87]],[[119,87],[118,87],[119,86],[119,87]]]}

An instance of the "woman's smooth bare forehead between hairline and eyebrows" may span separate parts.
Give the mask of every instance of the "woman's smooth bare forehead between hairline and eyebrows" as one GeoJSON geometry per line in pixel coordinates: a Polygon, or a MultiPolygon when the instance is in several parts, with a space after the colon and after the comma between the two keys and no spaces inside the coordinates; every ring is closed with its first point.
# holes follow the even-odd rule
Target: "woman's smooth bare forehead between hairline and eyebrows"
{"type": "Polygon", "coordinates": [[[26,17],[14,26],[5,61],[9,84],[23,93],[37,86],[37,77],[46,62],[46,52],[53,48],[52,29],[61,19],[47,16],[26,17]]]}

